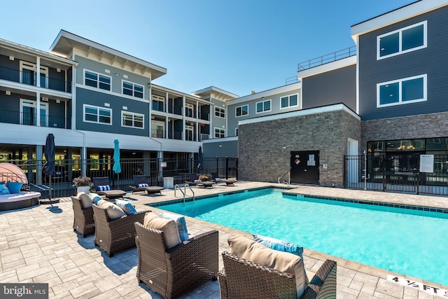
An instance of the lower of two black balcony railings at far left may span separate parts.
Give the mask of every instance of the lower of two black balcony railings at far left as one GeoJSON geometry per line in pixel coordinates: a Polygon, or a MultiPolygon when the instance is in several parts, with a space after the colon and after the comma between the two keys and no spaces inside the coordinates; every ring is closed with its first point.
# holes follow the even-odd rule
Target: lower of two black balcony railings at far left
{"type": "MultiPolygon", "coordinates": [[[[26,113],[19,111],[1,110],[0,123],[13,123],[18,125],[37,125],[36,113],[26,113]]],[[[59,127],[62,129],[71,128],[71,120],[64,116],[51,116],[41,114],[39,124],[41,127],[59,127]]]]}

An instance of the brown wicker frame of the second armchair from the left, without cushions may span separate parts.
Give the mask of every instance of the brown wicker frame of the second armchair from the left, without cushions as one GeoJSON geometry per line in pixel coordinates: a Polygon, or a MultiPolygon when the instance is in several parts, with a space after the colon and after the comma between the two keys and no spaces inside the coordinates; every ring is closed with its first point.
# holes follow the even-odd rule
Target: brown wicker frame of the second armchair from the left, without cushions
{"type": "Polygon", "coordinates": [[[104,249],[109,257],[112,257],[113,253],[135,246],[137,234],[134,223],[143,223],[146,211],[110,220],[106,209],[96,204],[92,208],[95,220],[95,245],[104,249]]]}

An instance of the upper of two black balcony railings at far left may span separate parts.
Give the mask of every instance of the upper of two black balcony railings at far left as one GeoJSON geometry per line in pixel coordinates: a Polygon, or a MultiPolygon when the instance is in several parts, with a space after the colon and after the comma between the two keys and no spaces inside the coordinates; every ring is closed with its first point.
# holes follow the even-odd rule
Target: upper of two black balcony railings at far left
{"type": "MultiPolygon", "coordinates": [[[[18,69],[0,67],[0,79],[37,86],[36,74],[34,72],[30,73],[29,71],[19,71],[18,69]]],[[[47,76],[39,76],[39,83],[41,88],[71,92],[71,81],[64,81],[47,76]]]]}

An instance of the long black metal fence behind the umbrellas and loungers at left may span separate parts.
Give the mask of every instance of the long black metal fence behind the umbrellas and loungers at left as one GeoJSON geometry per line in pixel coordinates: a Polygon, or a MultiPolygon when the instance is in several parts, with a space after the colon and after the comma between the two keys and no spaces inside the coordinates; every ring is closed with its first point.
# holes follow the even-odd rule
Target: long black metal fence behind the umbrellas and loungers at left
{"type": "MultiPolygon", "coordinates": [[[[28,178],[26,188],[42,194],[41,198],[48,198],[50,176],[43,172],[45,160],[3,160],[22,169],[28,178]]],[[[173,178],[174,184],[188,181],[189,173],[211,175],[218,172],[221,178],[238,178],[238,158],[204,158],[202,169],[198,169],[199,160],[181,159],[121,159],[121,172],[113,172],[113,159],[88,160],[55,160],[56,173],[51,179],[51,197],[68,197],[76,195],[73,179],[78,176],[109,177],[111,188],[130,191],[134,185],[134,175],[145,175],[150,186],[163,186],[164,178],[173,178]]]]}

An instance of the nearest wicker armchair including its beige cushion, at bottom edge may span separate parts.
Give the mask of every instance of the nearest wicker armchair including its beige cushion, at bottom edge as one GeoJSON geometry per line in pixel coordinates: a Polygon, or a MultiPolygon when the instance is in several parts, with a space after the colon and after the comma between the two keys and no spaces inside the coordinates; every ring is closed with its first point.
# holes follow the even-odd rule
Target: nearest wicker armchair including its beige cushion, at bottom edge
{"type": "Polygon", "coordinates": [[[337,265],[334,260],[326,260],[305,286],[304,277],[300,274],[304,272],[300,257],[291,253],[279,253],[273,249],[261,249],[262,245],[257,246],[250,242],[246,242],[243,246],[240,244],[230,245],[230,250],[233,249],[239,256],[223,252],[224,268],[218,272],[221,298],[296,299],[297,295],[300,299],[336,298],[337,265]],[[235,250],[237,246],[239,248],[235,250]],[[258,259],[258,263],[241,256],[258,259]]]}

